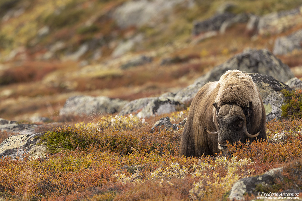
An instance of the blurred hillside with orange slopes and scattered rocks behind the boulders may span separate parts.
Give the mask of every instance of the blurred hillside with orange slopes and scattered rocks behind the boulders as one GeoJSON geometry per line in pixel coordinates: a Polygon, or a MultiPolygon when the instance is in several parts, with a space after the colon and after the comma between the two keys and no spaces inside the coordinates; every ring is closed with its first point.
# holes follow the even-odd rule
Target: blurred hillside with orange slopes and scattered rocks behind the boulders
{"type": "Polygon", "coordinates": [[[248,48],[275,52],[300,78],[302,43],[296,40],[287,52],[275,46],[278,38],[302,29],[301,5],[1,0],[0,118],[52,119],[75,95],[134,100],[176,92],[248,48]],[[217,20],[209,21],[221,17],[228,23],[215,27],[217,20]],[[201,28],[200,22],[208,24],[201,28]]]}

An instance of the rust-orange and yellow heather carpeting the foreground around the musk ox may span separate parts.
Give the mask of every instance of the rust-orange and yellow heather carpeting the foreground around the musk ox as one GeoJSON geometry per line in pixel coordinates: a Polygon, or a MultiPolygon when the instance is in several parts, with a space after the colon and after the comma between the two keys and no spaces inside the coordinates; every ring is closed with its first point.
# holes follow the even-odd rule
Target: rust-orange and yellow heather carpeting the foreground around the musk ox
{"type": "MultiPolygon", "coordinates": [[[[263,174],[302,156],[301,119],[270,121],[267,141],[234,144],[228,154],[201,158],[178,155],[182,129],[151,132],[153,118],[133,127],[136,120],[131,115],[120,120],[107,115],[95,118],[95,123],[46,131],[41,137],[49,149],[45,158],[0,160],[1,196],[13,200],[225,200],[240,178],[263,174]],[[104,124],[109,120],[110,125],[104,124]]],[[[279,181],[276,191],[293,184],[301,188],[299,182],[288,176],[288,181],[279,181]]]]}

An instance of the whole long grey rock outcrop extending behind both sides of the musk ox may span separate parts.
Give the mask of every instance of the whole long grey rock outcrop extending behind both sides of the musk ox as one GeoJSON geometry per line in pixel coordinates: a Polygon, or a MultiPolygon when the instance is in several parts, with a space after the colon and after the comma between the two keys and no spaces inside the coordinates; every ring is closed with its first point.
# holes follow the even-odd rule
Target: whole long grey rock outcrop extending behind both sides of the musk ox
{"type": "Polygon", "coordinates": [[[233,69],[252,73],[250,75],[257,84],[266,107],[267,121],[281,118],[280,106],[284,100],[281,90],[291,90],[290,87],[282,82],[288,81],[294,75],[286,64],[283,64],[268,50],[252,49],[235,55],[225,63],[216,66],[213,70],[195,80],[195,83],[176,93],[163,94],[159,98],[153,97],[131,101],[122,108],[119,115],[136,113],[141,110],[137,115],[145,118],[175,111],[177,105],[190,104],[198,90],[205,83],[217,81],[225,71],[233,69]],[[169,101],[166,101],[166,99],[169,99],[169,101]],[[162,108],[160,109],[161,111],[158,111],[158,108],[162,108]]]}

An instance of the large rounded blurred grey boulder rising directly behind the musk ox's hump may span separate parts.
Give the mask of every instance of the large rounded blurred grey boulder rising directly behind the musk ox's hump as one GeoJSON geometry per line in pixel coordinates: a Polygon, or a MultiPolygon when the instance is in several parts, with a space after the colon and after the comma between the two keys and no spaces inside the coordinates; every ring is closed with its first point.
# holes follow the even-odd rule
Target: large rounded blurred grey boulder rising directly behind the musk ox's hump
{"type": "Polygon", "coordinates": [[[268,50],[248,49],[233,56],[223,64],[214,67],[213,70],[198,78],[195,82],[217,81],[225,71],[234,69],[246,71],[247,73],[270,75],[281,82],[286,82],[294,77],[288,65],[282,63],[268,50]]]}

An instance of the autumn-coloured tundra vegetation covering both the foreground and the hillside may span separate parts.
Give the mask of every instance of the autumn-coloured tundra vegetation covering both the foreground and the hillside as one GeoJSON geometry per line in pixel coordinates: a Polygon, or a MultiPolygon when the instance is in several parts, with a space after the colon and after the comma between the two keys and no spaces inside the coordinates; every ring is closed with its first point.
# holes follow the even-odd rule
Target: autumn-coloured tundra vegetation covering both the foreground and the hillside
{"type": "MultiPolygon", "coordinates": [[[[1,21],[1,118],[30,121],[28,117],[37,113],[48,116],[51,122],[61,122],[60,126],[45,124],[37,130],[43,133],[41,143],[48,149],[45,157],[30,159],[24,155],[22,160],[0,159],[0,198],[16,201],[226,200],[232,185],[240,178],[260,175],[283,165],[282,174],[286,179],[259,190],[268,193],[301,190],[301,175],[291,177],[291,171],[301,172],[302,167],[302,103],[298,90],[284,91],[288,97],[282,108],[284,119],[266,123],[267,141],[228,145],[232,155],[179,156],[182,127],[150,131],[162,117],[168,116],[172,123],[179,123],[188,116],[188,108],[146,119],[116,114],[57,116],[65,100],[77,94],[133,100],[188,86],[195,78],[247,47],[271,50],[271,41],[278,36],[251,40],[248,34],[242,34],[246,28],[243,23],[231,26],[223,35],[188,47],[186,41],[191,37],[192,22],[211,17],[224,1],[196,1],[191,10],[176,8],[174,18],[165,19],[165,27],[121,29],[107,14],[123,2],[126,0],[0,2],[1,17],[10,9],[19,11],[8,16],[7,21],[1,21]],[[14,5],[25,8],[19,10],[14,5]],[[90,20],[95,23],[89,26],[90,20]],[[50,33],[36,38],[37,31],[44,25],[50,27],[50,33]],[[155,62],[168,56],[180,57],[181,61],[167,68],[150,63],[124,70],[119,68],[122,61],[108,62],[112,46],[137,33],[146,34],[148,40],[142,42],[140,48],[153,55],[155,51],[155,62]],[[102,57],[92,61],[92,65],[83,67],[79,61],[63,59],[66,52],[74,52],[94,38],[104,44],[102,57]],[[35,59],[48,51],[43,47],[57,41],[71,45],[62,46],[50,61],[35,59]],[[22,48],[27,51],[21,51],[22,48]],[[4,59],[16,50],[20,51],[13,59],[4,59]],[[101,68],[99,64],[103,62],[112,68],[98,74],[89,73],[91,68],[101,68]],[[290,163],[293,161],[295,165],[290,163]]],[[[297,8],[302,3],[297,0],[234,2],[238,6],[233,12],[258,15],[297,8]]],[[[281,35],[300,28],[301,25],[291,27],[281,35]]],[[[302,64],[300,55],[301,51],[297,50],[279,58],[295,67],[302,64]]],[[[81,59],[91,57],[92,53],[86,52],[81,59]]],[[[299,77],[299,72],[296,75],[299,77]]],[[[0,131],[0,142],[12,134],[0,131]]],[[[246,200],[255,198],[245,196],[246,200]]]]}

